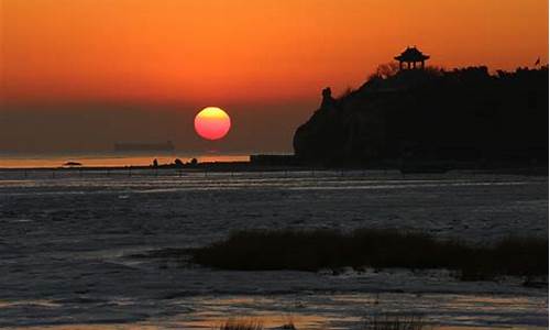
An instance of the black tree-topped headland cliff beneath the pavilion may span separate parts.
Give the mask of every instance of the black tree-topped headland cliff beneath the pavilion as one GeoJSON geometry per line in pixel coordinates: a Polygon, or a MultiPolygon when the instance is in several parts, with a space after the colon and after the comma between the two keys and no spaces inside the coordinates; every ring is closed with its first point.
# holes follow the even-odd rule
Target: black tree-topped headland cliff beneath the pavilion
{"type": "Polygon", "coordinates": [[[295,155],[324,166],[548,166],[548,66],[490,74],[382,65],[356,90],[322,91],[295,133],[295,155]]]}

